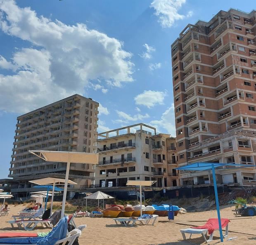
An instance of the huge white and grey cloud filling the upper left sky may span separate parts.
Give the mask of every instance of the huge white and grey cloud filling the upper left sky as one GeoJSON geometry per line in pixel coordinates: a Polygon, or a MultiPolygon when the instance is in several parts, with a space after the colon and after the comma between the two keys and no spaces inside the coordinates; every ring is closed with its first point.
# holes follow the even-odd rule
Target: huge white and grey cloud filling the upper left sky
{"type": "Polygon", "coordinates": [[[0,75],[0,110],[28,112],[81,93],[97,79],[111,86],[133,81],[132,54],[122,42],[82,23],[68,26],[0,0],[0,30],[33,47],[15,50],[12,61],[0,56],[1,68],[15,70],[0,75]]]}

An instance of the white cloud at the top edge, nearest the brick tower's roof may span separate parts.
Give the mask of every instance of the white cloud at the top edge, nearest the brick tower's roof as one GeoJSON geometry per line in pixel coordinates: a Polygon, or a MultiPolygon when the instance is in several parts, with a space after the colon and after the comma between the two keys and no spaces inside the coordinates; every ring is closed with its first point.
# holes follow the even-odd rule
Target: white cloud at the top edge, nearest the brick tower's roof
{"type": "Polygon", "coordinates": [[[191,17],[190,10],[187,15],[179,14],[178,10],[186,3],[186,0],[154,0],[150,7],[154,8],[155,15],[159,17],[159,22],[163,28],[173,26],[173,23],[185,17],[191,17]]]}

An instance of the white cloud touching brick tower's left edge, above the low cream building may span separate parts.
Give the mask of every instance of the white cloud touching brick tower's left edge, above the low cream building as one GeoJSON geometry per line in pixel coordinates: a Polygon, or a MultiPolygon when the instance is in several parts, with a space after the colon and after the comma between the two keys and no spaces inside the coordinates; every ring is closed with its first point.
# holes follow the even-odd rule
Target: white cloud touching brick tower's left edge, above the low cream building
{"type": "Polygon", "coordinates": [[[161,116],[160,120],[150,121],[149,124],[157,129],[159,133],[170,133],[173,137],[175,131],[174,104],[171,105],[161,116]]]}

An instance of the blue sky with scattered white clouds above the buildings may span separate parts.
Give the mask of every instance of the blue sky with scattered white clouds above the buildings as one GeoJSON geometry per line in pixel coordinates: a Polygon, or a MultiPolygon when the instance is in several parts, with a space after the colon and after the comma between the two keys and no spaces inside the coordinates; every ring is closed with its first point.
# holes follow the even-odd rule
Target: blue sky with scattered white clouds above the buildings
{"type": "Polygon", "coordinates": [[[0,0],[0,178],[16,118],[79,93],[98,131],[144,122],[175,136],[170,45],[188,23],[253,0],[0,0]]]}

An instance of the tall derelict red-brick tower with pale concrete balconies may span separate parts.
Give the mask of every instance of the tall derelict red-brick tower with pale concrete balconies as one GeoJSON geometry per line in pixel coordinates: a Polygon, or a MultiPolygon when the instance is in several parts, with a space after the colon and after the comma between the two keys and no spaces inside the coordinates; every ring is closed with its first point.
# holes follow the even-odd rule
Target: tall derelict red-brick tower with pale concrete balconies
{"type": "MultiPolygon", "coordinates": [[[[256,162],[256,12],[220,11],[187,25],[171,45],[179,165],[256,162]]],[[[208,184],[207,171],[181,173],[208,184]]],[[[218,183],[251,185],[256,169],[217,170],[218,183]]],[[[255,183],[255,182],[254,182],[255,183]]]]}

